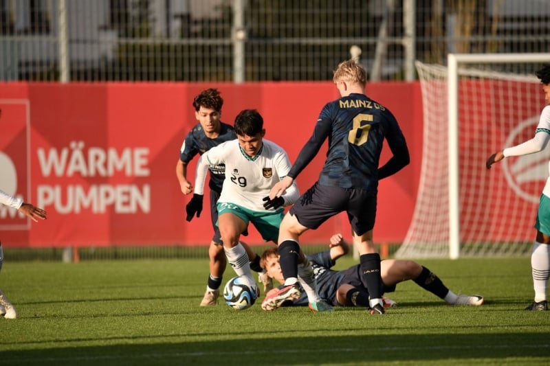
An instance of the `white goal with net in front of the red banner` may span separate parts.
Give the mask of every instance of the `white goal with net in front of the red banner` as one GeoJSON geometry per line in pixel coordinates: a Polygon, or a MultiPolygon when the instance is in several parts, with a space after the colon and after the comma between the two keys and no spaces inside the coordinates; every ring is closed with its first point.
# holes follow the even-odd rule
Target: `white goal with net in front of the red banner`
{"type": "MultiPolygon", "coordinates": [[[[550,148],[485,168],[533,137],[544,95],[534,75],[550,54],[449,55],[417,62],[423,104],[421,176],[397,258],[527,255],[550,148]]],[[[412,152],[414,154],[415,152],[412,152]]]]}

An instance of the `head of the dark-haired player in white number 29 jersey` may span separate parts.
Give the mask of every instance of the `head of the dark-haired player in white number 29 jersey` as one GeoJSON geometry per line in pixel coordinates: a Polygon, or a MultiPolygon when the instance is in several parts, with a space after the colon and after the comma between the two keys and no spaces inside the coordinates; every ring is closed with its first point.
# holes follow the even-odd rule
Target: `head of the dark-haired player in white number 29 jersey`
{"type": "Polygon", "coordinates": [[[234,129],[243,151],[249,157],[254,157],[263,144],[263,117],[256,109],[245,109],[235,117],[234,129]]]}

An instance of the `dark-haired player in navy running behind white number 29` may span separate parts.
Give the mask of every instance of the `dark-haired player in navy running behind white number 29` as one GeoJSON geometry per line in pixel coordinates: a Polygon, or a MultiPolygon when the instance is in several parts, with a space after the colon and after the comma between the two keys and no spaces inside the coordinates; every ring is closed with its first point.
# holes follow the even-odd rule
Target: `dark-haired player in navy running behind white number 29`
{"type": "MultiPolygon", "coordinates": [[[[187,180],[187,165],[197,154],[202,155],[214,146],[218,146],[225,141],[236,139],[235,131],[232,126],[221,122],[221,107],[223,99],[217,89],[206,89],[201,91],[193,99],[193,108],[195,108],[195,118],[197,123],[186,135],[184,143],[181,145],[179,159],[176,165],[176,176],[179,181],[179,187],[183,194],[193,192],[193,186],[187,180]]],[[[223,245],[218,227],[215,225],[218,220],[218,211],[216,203],[221,193],[223,179],[225,179],[225,166],[223,164],[210,165],[210,218],[214,228],[214,236],[208,249],[210,258],[210,274],[208,275],[208,285],[206,293],[201,300],[201,306],[212,306],[217,304],[219,296],[219,286],[221,285],[223,272],[227,266],[223,245]]],[[[191,200],[186,206],[187,220],[190,221],[195,214],[197,218],[202,211],[203,195],[193,194],[191,200]]],[[[248,254],[252,258],[255,271],[261,271],[259,267],[259,256],[252,253],[247,247],[248,254]]],[[[260,276],[260,279],[267,281],[266,277],[260,276]]]]}

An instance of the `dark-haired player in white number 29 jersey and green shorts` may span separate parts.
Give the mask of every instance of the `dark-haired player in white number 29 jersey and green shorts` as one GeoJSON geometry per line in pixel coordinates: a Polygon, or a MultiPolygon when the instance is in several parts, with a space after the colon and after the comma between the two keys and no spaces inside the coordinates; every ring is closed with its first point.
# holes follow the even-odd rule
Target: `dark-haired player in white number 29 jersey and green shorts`
{"type": "Polygon", "coordinates": [[[284,196],[262,201],[290,170],[287,153],[263,138],[263,117],[254,109],[241,111],[235,118],[234,129],[236,140],[211,148],[199,159],[195,194],[203,193],[208,166],[225,166],[225,180],[217,202],[223,249],[235,273],[247,277],[250,286],[256,288],[245,246],[240,242],[241,233],[252,222],[265,241],[276,242],[283,207],[294,203],[299,192],[293,184],[284,196]]]}

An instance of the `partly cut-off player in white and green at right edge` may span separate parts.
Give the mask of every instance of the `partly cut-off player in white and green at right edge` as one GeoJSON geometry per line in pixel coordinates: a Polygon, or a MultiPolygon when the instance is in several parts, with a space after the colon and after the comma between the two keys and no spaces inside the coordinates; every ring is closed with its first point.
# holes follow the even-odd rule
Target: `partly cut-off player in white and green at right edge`
{"type": "MultiPolygon", "coordinates": [[[[495,152],[485,163],[487,169],[497,161],[505,157],[519,157],[522,155],[534,154],[544,150],[550,141],[550,64],[544,65],[536,72],[536,76],[542,83],[544,100],[547,106],[542,108],[540,119],[535,130],[535,136],[522,144],[505,148],[495,152]]],[[[550,278],[550,178],[540,195],[537,218],[535,221],[537,236],[531,252],[531,275],[533,276],[533,288],[535,299],[525,310],[548,310],[547,286],[550,278]]]]}

